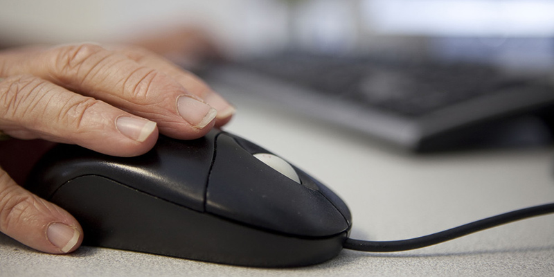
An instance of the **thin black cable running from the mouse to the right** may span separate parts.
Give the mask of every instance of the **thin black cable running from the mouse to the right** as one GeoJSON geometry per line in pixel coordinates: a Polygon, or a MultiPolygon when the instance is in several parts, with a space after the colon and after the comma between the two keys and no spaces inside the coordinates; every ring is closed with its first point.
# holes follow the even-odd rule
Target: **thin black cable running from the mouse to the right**
{"type": "Polygon", "coordinates": [[[502,224],[538,215],[546,215],[548,213],[554,213],[554,203],[523,208],[521,210],[495,215],[493,217],[464,224],[452,229],[408,240],[372,242],[368,240],[355,240],[347,238],[343,244],[343,248],[366,252],[395,252],[418,249],[422,247],[429,247],[440,242],[446,242],[447,240],[454,240],[455,238],[460,238],[464,235],[490,229],[502,224]]]}

